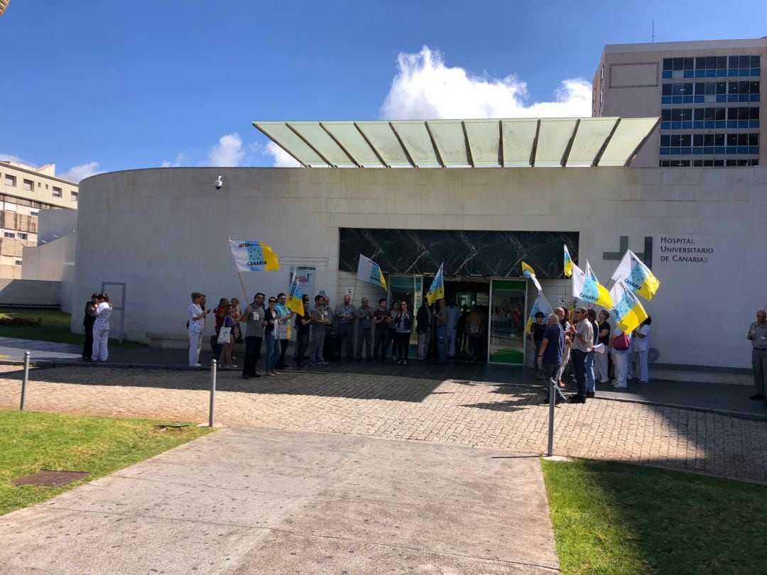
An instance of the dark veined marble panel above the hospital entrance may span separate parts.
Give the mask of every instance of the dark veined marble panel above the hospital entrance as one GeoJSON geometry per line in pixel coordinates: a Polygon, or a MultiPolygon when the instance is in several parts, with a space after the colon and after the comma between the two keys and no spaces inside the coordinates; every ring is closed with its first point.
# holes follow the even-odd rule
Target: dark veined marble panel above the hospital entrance
{"type": "Polygon", "coordinates": [[[522,276],[520,262],[538,278],[564,277],[562,245],[578,263],[578,232],[453,232],[423,229],[341,228],[338,269],[357,271],[360,253],[388,273],[522,276]]]}

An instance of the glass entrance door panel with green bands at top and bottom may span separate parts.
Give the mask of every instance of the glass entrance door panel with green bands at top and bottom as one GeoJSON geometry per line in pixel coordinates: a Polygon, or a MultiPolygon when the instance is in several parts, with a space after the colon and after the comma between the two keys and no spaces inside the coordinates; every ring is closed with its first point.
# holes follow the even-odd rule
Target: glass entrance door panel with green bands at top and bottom
{"type": "Polygon", "coordinates": [[[527,281],[490,282],[489,363],[525,364],[527,281]]]}

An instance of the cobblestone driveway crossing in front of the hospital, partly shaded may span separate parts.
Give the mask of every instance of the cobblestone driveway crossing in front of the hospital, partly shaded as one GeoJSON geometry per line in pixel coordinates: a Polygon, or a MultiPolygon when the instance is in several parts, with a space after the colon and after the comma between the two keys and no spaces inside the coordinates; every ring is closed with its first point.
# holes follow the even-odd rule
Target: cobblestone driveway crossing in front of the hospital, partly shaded
{"type": "MultiPolygon", "coordinates": [[[[0,366],[0,408],[18,409],[21,372],[0,366]]],[[[207,420],[208,373],[61,367],[33,370],[27,409],[207,420]]],[[[548,406],[514,386],[283,373],[219,373],[216,421],[542,453],[548,406]]],[[[556,412],[555,452],[767,482],[767,423],[605,399],[556,412]]]]}

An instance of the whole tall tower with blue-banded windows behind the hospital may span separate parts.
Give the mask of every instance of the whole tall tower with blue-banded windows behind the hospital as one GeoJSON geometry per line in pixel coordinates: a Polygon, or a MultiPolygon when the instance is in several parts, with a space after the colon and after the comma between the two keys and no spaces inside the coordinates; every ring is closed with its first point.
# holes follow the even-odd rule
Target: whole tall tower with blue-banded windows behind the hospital
{"type": "Polygon", "coordinates": [[[765,66],[767,38],[610,44],[591,115],[660,116],[634,166],[764,166],[765,66]]]}

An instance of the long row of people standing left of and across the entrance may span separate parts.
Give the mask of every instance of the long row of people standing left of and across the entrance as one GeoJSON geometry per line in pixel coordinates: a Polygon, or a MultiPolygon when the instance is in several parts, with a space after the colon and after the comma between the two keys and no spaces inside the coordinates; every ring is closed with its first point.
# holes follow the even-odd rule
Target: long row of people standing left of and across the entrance
{"type": "Polygon", "coordinates": [[[216,335],[213,347],[219,365],[237,368],[234,355],[235,343],[245,341],[245,357],[242,358],[242,377],[260,377],[255,364],[261,357],[265,343],[264,375],[277,376],[280,370],[291,369],[285,360],[285,352],[295,330],[295,367],[304,369],[308,364],[327,363],[326,357],[370,363],[407,365],[410,356],[410,337],[413,329],[417,334],[417,358],[426,361],[431,349],[432,335],[436,337],[436,363],[446,363],[451,357],[462,355],[484,360],[487,334],[487,313],[482,306],[465,306],[463,310],[455,299],[439,300],[434,305],[426,298],[416,311],[410,310],[408,301],[393,301],[391,308],[385,298],[372,307],[367,297],[359,306],[351,303],[345,295],[343,303],[334,309],[325,294],[314,297],[314,305],[308,295],[303,297],[302,314],[288,309],[285,294],[266,298],[255,294],[250,305],[241,309],[239,300],[222,298],[215,310],[206,307],[205,294],[194,292],[189,304],[187,330],[189,332],[189,366],[201,366],[202,334],[205,318],[213,313],[216,317],[216,335]],[[354,337],[354,323],[357,336],[354,337]],[[331,336],[328,338],[328,336],[331,336]],[[326,340],[333,349],[326,349],[326,340]]]}

